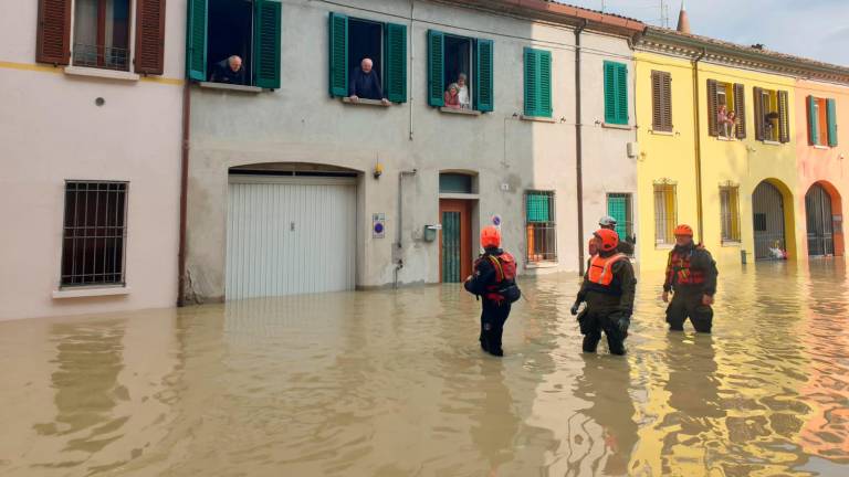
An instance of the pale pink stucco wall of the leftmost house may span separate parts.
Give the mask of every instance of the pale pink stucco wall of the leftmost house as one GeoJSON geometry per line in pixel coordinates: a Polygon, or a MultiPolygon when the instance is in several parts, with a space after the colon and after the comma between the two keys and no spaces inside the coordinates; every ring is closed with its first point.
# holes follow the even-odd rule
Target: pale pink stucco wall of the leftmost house
{"type": "Polygon", "coordinates": [[[0,320],[172,306],[185,2],[168,2],[165,75],[135,82],[36,65],[36,7],[0,6],[0,320]],[[129,181],[128,295],[52,298],[67,179],[129,181]]]}

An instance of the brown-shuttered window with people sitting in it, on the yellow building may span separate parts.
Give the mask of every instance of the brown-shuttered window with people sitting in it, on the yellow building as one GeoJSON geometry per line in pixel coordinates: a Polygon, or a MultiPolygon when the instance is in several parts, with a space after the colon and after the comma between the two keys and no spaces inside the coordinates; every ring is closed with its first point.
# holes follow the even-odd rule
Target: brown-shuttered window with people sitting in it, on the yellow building
{"type": "Polygon", "coordinates": [[[708,131],[713,137],[746,137],[745,86],[708,80],[708,131]]]}

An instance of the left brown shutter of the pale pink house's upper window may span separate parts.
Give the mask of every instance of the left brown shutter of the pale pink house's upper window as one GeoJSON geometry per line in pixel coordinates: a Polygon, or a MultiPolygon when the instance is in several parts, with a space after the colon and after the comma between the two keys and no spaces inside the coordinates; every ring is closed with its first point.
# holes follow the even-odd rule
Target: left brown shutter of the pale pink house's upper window
{"type": "Polygon", "coordinates": [[[39,0],[35,61],[66,65],[71,62],[71,0],[39,0]]]}

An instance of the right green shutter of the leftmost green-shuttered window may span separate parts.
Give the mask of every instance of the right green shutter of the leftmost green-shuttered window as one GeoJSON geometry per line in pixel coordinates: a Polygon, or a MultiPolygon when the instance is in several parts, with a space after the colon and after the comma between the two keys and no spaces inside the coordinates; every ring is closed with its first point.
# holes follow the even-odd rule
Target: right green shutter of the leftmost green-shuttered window
{"type": "Polygon", "coordinates": [[[256,0],[253,3],[253,85],[280,88],[281,3],[256,0]]]}

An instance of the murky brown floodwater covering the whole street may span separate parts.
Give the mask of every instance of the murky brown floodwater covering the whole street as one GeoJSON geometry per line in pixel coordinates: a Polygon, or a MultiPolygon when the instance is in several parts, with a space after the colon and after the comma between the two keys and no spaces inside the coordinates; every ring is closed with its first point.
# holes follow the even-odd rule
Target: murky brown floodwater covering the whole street
{"type": "Polygon", "coordinates": [[[626,358],[579,352],[573,276],[504,359],[449,285],[3,322],[0,475],[849,475],[843,262],[725,271],[713,336],[658,280],[626,358]]]}

